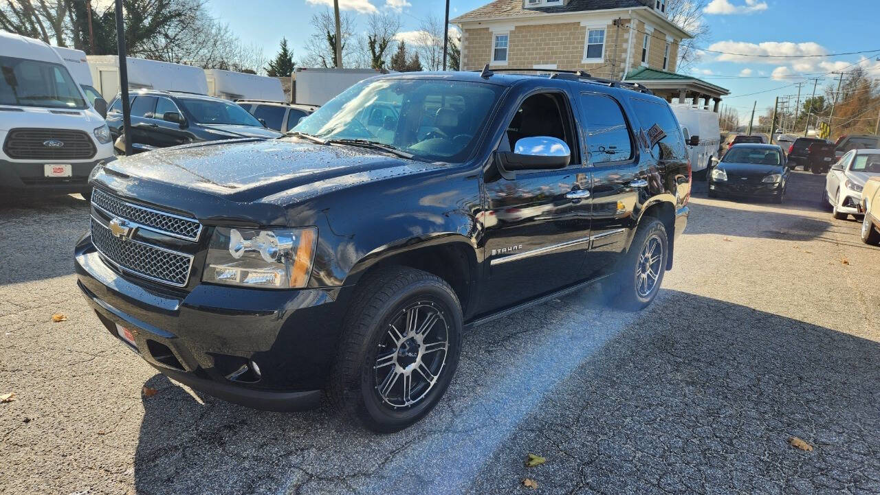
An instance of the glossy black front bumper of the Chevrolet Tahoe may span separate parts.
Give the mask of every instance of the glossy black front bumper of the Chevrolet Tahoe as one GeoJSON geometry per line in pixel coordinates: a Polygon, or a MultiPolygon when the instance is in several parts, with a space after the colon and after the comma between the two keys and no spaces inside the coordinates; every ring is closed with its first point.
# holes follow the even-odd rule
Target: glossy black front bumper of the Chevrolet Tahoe
{"type": "Polygon", "coordinates": [[[106,264],[88,235],[74,264],[77,286],[107,331],[163,374],[255,409],[319,403],[341,322],[332,292],[156,288],[106,264]],[[134,346],[117,325],[134,334],[134,346]]]}

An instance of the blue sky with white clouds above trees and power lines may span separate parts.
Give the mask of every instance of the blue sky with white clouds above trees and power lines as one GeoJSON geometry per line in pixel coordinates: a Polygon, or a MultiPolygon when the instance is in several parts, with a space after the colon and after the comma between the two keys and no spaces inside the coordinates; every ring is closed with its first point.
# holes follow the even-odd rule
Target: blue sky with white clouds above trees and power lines
{"type": "MultiPolygon", "coordinates": [[[[470,11],[488,0],[451,0],[450,17],[470,11]]],[[[246,43],[263,47],[265,55],[275,55],[282,37],[290,41],[295,57],[304,55],[303,45],[312,27],[309,18],[332,0],[209,0],[208,7],[246,43]],[[243,8],[246,5],[246,8],[243,8]]],[[[341,0],[343,10],[358,20],[376,10],[390,10],[403,22],[404,31],[416,31],[422,18],[443,16],[443,0],[341,0]]],[[[862,50],[873,54],[834,57],[771,58],[707,53],[693,67],[693,73],[706,81],[728,88],[725,105],[742,115],[758,102],[759,113],[773,106],[774,97],[796,94],[792,85],[808,77],[823,77],[818,87],[836,82],[835,69],[852,69],[862,57],[862,67],[880,76],[880,40],[876,40],[880,2],[846,0],[829,4],[820,0],[712,0],[703,22],[711,29],[704,45],[722,52],[750,55],[827,55],[862,50]],[[774,78],[775,76],[775,78],[774,78]],[[759,94],[748,95],[758,91],[759,94]]],[[[358,25],[361,30],[365,21],[358,25]]],[[[802,92],[812,91],[812,81],[802,92]],[[809,87],[808,87],[809,86],[809,87]]],[[[807,95],[809,96],[809,94],[807,95]]]]}

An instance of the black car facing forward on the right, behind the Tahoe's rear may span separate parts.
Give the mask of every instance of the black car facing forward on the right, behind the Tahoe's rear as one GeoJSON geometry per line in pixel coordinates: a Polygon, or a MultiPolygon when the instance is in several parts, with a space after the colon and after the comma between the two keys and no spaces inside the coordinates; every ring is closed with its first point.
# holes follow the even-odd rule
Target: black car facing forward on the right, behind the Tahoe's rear
{"type": "Polygon", "coordinates": [[[709,171],[709,197],[766,198],[781,203],[788,186],[785,152],[775,144],[735,144],[709,171]]]}

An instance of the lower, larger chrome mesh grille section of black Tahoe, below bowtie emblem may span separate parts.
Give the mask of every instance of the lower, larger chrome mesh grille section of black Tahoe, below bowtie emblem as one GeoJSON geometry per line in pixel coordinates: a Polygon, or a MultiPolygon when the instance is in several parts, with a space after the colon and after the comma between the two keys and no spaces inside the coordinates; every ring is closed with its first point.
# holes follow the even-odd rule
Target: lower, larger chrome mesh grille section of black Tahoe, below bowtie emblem
{"type": "Polygon", "coordinates": [[[92,244],[122,270],[176,287],[187,285],[192,255],[115,237],[95,218],[92,218],[92,244]]]}

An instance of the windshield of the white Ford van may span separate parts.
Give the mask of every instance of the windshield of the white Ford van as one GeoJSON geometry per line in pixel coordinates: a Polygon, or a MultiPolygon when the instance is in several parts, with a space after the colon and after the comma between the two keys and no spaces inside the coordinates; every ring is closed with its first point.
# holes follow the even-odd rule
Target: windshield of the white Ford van
{"type": "Polygon", "coordinates": [[[67,68],[58,63],[0,56],[0,105],[85,108],[67,68]]]}

